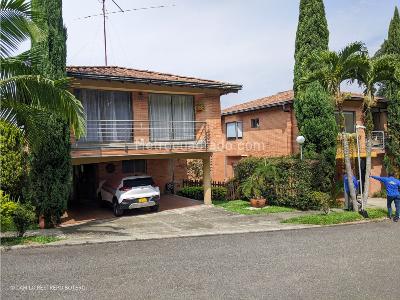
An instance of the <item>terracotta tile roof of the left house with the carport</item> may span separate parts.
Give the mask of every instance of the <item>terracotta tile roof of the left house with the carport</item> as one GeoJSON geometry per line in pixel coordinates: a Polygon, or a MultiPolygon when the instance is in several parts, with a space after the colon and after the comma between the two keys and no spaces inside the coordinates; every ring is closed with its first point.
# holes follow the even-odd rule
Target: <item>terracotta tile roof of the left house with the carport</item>
{"type": "Polygon", "coordinates": [[[187,76],[179,76],[168,73],[160,73],[148,70],[130,69],[117,66],[69,66],[67,74],[71,77],[97,77],[97,79],[115,79],[127,81],[142,81],[144,83],[189,85],[197,87],[232,89],[238,91],[241,85],[230,84],[222,81],[208,80],[187,76]]]}

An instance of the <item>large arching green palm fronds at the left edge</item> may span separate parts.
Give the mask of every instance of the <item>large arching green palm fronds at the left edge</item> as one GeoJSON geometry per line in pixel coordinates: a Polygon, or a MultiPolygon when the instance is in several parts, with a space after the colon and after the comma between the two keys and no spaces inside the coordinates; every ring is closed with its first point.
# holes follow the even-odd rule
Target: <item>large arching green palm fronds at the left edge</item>
{"type": "Polygon", "coordinates": [[[34,136],[45,111],[64,117],[79,137],[85,132],[82,104],[68,91],[68,79],[50,80],[39,74],[32,62],[40,59],[33,50],[12,56],[27,39],[40,40],[40,29],[32,21],[34,13],[26,0],[0,2],[0,117],[8,116],[24,125],[28,136],[34,136]]]}

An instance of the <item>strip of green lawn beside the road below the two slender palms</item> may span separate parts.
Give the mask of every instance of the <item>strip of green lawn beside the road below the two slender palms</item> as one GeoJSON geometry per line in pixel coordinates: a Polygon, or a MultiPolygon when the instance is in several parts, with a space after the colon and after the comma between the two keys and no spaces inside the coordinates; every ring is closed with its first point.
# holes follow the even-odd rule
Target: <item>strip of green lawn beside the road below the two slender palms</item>
{"type": "MultiPolygon", "coordinates": [[[[387,211],[385,209],[381,208],[367,209],[367,211],[369,219],[380,219],[387,216],[387,211]]],[[[332,225],[332,224],[341,224],[341,223],[355,222],[361,220],[364,220],[364,218],[358,212],[340,211],[340,212],[331,212],[328,215],[317,214],[317,215],[294,217],[283,220],[282,223],[332,225]]]]}

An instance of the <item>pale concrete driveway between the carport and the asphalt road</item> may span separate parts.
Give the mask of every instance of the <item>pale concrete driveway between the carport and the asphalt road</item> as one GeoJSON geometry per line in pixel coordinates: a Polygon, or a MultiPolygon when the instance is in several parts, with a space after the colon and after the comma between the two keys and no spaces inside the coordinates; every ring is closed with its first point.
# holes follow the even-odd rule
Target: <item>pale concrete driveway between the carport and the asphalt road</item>
{"type": "MultiPolygon", "coordinates": [[[[92,221],[70,227],[33,230],[27,232],[26,235],[58,236],[63,239],[51,243],[51,245],[74,245],[265,232],[315,227],[313,225],[280,223],[283,219],[313,213],[318,212],[240,215],[211,205],[198,205],[159,213],[92,221]]],[[[20,246],[13,248],[18,247],[20,246]]]]}

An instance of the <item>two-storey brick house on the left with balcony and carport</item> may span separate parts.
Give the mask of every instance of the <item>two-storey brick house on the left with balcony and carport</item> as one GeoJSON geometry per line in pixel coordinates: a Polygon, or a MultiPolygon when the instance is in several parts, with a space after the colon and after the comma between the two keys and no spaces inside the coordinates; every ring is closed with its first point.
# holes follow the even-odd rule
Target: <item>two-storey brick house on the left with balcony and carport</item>
{"type": "Polygon", "coordinates": [[[151,175],[164,192],[186,178],[186,159],[203,160],[211,201],[210,158],[223,140],[220,96],[240,85],[120,67],[71,66],[67,75],[87,115],[86,136],[72,137],[76,201],[95,198],[102,180],[130,175],[151,175]]]}

